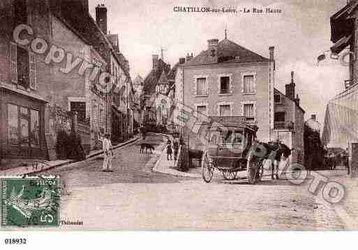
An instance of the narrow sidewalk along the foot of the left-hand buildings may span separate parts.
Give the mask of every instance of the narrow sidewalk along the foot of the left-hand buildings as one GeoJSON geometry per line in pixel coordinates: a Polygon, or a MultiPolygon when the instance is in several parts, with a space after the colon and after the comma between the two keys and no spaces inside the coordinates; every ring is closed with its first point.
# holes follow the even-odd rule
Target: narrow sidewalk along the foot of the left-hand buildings
{"type": "MultiPolygon", "coordinates": [[[[117,146],[114,146],[113,149],[121,148],[123,146],[126,146],[129,143],[133,143],[134,141],[137,141],[139,137],[135,136],[133,139],[130,139],[128,141],[125,141],[124,143],[120,143],[117,146]]],[[[86,156],[86,159],[96,157],[98,155],[103,154],[103,150],[96,150],[91,151],[89,155],[86,156]]],[[[75,159],[57,159],[53,161],[34,161],[31,160],[30,163],[27,164],[27,166],[18,166],[12,169],[5,169],[3,171],[0,171],[0,176],[15,176],[15,175],[25,175],[25,174],[33,174],[33,173],[40,173],[42,171],[46,171],[49,169],[53,169],[59,166],[64,166],[68,164],[72,164],[76,162],[75,159]]]]}

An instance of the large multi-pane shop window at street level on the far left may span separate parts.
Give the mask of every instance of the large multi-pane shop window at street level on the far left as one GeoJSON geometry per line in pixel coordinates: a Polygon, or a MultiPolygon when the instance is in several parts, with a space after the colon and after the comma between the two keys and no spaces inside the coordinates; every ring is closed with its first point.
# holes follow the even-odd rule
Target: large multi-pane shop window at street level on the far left
{"type": "Polygon", "coordinates": [[[40,117],[37,110],[8,104],[8,144],[40,148],[40,117]]]}

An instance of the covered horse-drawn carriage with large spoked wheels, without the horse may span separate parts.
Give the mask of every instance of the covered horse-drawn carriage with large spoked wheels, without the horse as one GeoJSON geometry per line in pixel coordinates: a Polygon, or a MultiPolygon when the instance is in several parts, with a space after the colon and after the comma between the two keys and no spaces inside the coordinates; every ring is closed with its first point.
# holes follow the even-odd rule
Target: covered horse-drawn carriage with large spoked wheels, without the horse
{"type": "Polygon", "coordinates": [[[202,178],[210,182],[214,169],[221,171],[225,180],[237,178],[237,172],[247,171],[248,181],[254,184],[262,167],[260,159],[251,154],[251,146],[258,127],[241,122],[214,123],[209,128],[209,144],[202,155],[202,178]]]}

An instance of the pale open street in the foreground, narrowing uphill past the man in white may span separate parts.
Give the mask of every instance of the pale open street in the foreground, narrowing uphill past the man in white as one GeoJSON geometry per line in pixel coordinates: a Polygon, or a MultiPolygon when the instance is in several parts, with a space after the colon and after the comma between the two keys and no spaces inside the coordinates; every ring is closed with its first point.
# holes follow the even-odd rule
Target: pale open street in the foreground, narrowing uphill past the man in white
{"type": "MultiPolygon", "coordinates": [[[[156,144],[153,155],[140,154],[139,142],[115,150],[113,173],[100,171],[100,158],[47,171],[46,174],[60,174],[66,182],[68,195],[62,197],[61,219],[83,221],[83,226],[61,225],[59,229],[348,228],[334,206],[308,192],[309,181],[297,186],[264,176],[258,185],[230,184],[218,179],[207,184],[200,179],[151,173],[163,141],[158,136],[149,139],[156,144]]],[[[327,173],[327,177],[346,179],[344,171],[327,173]]],[[[357,208],[350,196],[357,194],[355,188],[347,189],[352,192],[344,202],[350,203],[350,208],[357,208]]],[[[357,217],[357,210],[348,214],[357,217]]]]}

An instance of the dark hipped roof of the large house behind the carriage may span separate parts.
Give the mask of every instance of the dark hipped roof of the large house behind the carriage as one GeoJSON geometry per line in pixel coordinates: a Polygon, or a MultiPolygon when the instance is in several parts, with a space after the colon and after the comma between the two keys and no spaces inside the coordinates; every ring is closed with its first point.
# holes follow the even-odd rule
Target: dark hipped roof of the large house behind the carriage
{"type": "Polygon", "coordinates": [[[218,42],[218,61],[212,60],[209,49],[201,52],[190,61],[186,62],[184,66],[189,65],[205,65],[205,64],[221,64],[221,63],[258,63],[268,62],[269,59],[249,49],[237,45],[228,39],[221,40],[218,42]]]}

